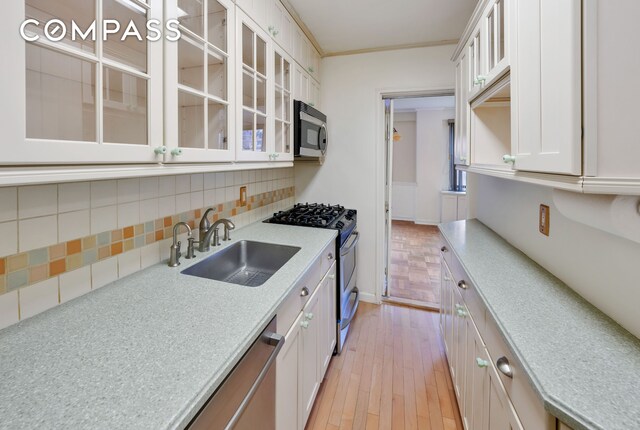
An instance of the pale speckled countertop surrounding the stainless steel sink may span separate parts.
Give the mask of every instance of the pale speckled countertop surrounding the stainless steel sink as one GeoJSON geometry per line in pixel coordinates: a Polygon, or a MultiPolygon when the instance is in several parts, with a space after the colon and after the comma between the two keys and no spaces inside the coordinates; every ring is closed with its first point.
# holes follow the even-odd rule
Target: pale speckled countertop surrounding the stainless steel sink
{"type": "Polygon", "coordinates": [[[335,235],[255,223],[233,242],[302,248],[261,287],[181,275],[198,254],[0,331],[0,428],[185,427],[335,235]]]}

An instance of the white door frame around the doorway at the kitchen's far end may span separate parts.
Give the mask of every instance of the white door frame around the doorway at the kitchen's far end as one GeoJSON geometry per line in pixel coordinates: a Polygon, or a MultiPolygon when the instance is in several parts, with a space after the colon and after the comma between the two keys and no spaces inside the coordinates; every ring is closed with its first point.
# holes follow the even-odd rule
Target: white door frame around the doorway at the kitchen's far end
{"type": "MultiPolygon", "coordinates": [[[[386,282],[385,269],[387,268],[386,256],[389,252],[390,243],[386,238],[385,219],[386,208],[385,196],[387,194],[385,177],[387,169],[387,142],[385,138],[385,111],[384,111],[384,99],[401,99],[401,98],[418,98],[418,97],[439,97],[439,96],[451,96],[455,94],[455,87],[451,85],[434,85],[430,87],[421,88],[379,88],[375,91],[376,102],[376,142],[375,142],[375,155],[376,155],[376,210],[375,213],[375,227],[376,227],[376,261],[375,261],[375,273],[376,273],[376,285],[375,285],[375,301],[376,303],[382,303],[383,293],[386,282]],[[386,249],[385,249],[386,246],[386,249]]],[[[391,187],[393,181],[389,181],[389,187],[391,187]]],[[[391,193],[389,192],[389,196],[391,193]]],[[[389,208],[389,219],[391,219],[393,208],[389,208]]]]}

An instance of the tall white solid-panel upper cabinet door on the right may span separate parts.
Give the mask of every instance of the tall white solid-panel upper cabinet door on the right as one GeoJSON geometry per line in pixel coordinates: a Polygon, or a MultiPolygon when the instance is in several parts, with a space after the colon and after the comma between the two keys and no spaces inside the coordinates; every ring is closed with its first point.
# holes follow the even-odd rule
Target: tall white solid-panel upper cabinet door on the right
{"type": "Polygon", "coordinates": [[[514,168],[582,174],[581,2],[512,3],[514,168]]]}

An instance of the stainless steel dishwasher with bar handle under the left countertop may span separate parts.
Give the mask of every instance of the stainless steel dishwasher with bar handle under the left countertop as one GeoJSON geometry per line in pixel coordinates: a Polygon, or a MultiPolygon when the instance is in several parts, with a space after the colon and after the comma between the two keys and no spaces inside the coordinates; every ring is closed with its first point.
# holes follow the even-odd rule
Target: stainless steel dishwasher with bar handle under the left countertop
{"type": "Polygon", "coordinates": [[[275,430],[275,362],[284,345],[284,336],[275,330],[274,317],[193,419],[190,429],[275,430]]]}

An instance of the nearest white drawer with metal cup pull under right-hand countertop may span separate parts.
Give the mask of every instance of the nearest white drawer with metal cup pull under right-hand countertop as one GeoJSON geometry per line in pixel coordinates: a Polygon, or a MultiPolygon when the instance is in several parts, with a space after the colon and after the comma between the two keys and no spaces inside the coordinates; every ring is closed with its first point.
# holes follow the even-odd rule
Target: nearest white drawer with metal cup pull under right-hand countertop
{"type": "Polygon", "coordinates": [[[498,370],[498,375],[504,385],[507,395],[513,403],[525,429],[553,429],[555,421],[544,410],[542,401],[533,391],[527,375],[522,370],[520,362],[516,360],[511,350],[507,347],[502,335],[498,331],[493,318],[487,316],[484,341],[493,365],[498,370]],[[506,358],[513,373],[510,378],[500,371],[498,361],[506,358]]]}

